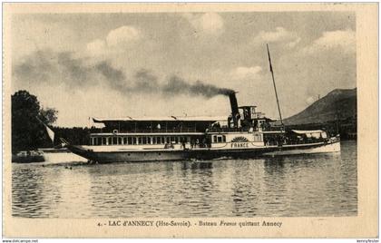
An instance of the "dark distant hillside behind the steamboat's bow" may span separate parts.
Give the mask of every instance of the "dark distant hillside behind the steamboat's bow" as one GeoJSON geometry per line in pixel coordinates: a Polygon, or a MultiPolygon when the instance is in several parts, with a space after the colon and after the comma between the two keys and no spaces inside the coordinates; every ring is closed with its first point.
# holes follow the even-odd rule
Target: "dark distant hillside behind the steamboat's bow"
{"type": "Polygon", "coordinates": [[[357,89],[334,90],[304,111],[284,120],[286,125],[317,124],[357,118],[357,89]]]}

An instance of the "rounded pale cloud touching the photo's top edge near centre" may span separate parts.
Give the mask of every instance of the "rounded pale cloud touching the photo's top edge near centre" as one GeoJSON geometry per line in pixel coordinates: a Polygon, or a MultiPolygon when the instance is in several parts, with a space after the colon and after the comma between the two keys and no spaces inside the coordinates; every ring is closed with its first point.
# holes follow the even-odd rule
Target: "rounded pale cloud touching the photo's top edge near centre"
{"type": "Polygon", "coordinates": [[[224,22],[222,17],[216,13],[200,14],[184,14],[192,27],[200,33],[204,34],[221,34],[224,31],[224,22]]]}

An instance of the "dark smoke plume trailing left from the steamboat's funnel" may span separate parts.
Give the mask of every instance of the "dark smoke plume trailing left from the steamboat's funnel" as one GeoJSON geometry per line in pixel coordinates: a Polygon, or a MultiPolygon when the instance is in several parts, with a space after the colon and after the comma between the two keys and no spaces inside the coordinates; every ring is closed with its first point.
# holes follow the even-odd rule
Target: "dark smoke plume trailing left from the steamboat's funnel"
{"type": "Polygon", "coordinates": [[[233,90],[197,81],[188,83],[179,76],[171,76],[160,81],[149,70],[141,69],[128,78],[120,68],[109,61],[92,63],[78,58],[73,53],[38,51],[27,56],[13,66],[15,82],[47,85],[62,84],[69,88],[103,84],[114,91],[161,93],[162,95],[196,95],[212,98],[216,95],[229,95],[233,90]]]}

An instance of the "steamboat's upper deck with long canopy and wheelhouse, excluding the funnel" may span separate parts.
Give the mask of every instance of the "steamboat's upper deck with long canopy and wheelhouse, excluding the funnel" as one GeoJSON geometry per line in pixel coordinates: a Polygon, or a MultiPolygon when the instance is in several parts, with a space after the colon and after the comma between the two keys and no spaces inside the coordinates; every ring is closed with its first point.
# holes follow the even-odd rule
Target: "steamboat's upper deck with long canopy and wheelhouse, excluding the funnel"
{"type": "MultiPolygon", "coordinates": [[[[269,125],[269,118],[263,113],[255,112],[254,107],[239,107],[243,110],[242,119],[238,126],[231,122],[230,117],[192,117],[192,116],[168,116],[168,117],[124,117],[114,119],[93,118],[96,123],[103,123],[101,133],[119,134],[201,134],[201,133],[227,133],[227,132],[276,132],[280,127],[269,125]],[[250,110],[251,109],[251,110],[250,110]],[[245,112],[246,111],[246,112],[245,112]]],[[[95,135],[95,134],[94,134],[95,135]]],[[[100,134],[96,134],[100,135],[100,134]]]]}

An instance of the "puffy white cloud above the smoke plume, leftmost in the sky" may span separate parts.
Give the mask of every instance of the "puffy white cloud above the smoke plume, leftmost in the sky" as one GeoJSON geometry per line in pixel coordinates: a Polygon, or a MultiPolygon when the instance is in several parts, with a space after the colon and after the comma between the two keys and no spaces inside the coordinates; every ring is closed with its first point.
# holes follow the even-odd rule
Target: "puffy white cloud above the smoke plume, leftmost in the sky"
{"type": "Polygon", "coordinates": [[[100,55],[108,52],[118,52],[130,44],[142,39],[142,33],[135,27],[124,25],[111,30],[105,39],[95,39],[86,44],[86,51],[91,55],[100,55]]]}

